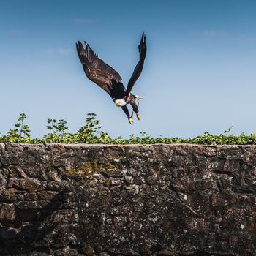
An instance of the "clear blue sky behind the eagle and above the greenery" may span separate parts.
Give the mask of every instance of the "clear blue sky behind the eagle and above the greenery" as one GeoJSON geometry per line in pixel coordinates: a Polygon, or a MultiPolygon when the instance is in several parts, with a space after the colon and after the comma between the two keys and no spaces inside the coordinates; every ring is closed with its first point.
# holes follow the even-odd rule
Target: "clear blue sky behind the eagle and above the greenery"
{"type": "Polygon", "coordinates": [[[50,1],[0,3],[0,132],[26,113],[33,136],[48,118],[77,131],[97,113],[112,136],[183,138],[256,132],[256,2],[236,0],[50,1]],[[133,92],[141,120],[131,126],[89,81],[75,53],[86,40],[127,85],[147,34],[148,53],[133,92]]]}

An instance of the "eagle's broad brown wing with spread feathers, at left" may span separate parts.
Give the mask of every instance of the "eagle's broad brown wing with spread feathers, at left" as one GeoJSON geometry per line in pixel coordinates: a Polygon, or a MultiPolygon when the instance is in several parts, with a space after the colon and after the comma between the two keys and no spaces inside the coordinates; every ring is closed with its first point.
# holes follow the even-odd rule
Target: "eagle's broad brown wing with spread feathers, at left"
{"type": "MultiPolygon", "coordinates": [[[[79,59],[83,65],[83,70],[86,73],[87,78],[96,83],[102,89],[108,92],[111,96],[110,85],[121,82],[121,76],[116,72],[115,69],[105,64],[102,59],[99,59],[97,54],[94,54],[89,44],[83,44],[78,41],[76,44],[78,50],[79,59]]],[[[112,97],[112,96],[111,96],[112,97]]]]}

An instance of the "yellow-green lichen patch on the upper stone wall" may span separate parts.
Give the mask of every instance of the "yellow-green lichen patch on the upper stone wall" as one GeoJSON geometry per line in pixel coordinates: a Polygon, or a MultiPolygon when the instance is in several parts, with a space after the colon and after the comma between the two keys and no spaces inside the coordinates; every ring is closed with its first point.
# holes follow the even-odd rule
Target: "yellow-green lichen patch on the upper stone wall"
{"type": "Polygon", "coordinates": [[[102,173],[103,171],[106,170],[118,170],[118,167],[110,162],[86,162],[77,169],[67,170],[67,173],[69,173],[70,175],[82,174],[83,176],[90,176],[94,173],[102,173]]]}

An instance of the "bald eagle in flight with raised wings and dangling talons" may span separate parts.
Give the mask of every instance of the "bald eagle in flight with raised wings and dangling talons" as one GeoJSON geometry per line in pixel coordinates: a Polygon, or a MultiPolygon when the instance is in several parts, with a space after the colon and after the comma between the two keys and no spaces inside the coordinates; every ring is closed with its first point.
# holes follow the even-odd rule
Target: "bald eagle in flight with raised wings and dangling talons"
{"type": "Polygon", "coordinates": [[[98,55],[91,50],[91,47],[87,42],[84,43],[85,47],[83,47],[83,44],[78,41],[76,43],[76,48],[78,50],[78,56],[81,64],[83,65],[83,70],[86,73],[87,78],[104,89],[113,99],[115,105],[124,110],[129,124],[132,124],[133,121],[132,115],[130,116],[129,114],[127,104],[132,105],[132,113],[135,112],[138,120],[140,120],[138,104],[136,104],[135,101],[136,99],[142,99],[142,97],[132,94],[131,91],[143,69],[143,64],[146,57],[146,34],[143,33],[140,39],[140,45],[138,45],[140,59],[132,73],[132,77],[129,79],[126,89],[123,83],[121,83],[122,79],[118,72],[116,72],[113,67],[105,64],[102,59],[99,59],[98,55]]]}

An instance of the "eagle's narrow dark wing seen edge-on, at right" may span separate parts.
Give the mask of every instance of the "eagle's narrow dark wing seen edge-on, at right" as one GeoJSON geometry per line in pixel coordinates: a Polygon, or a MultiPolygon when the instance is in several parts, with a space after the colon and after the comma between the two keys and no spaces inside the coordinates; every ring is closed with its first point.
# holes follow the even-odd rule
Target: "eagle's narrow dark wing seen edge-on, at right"
{"type": "Polygon", "coordinates": [[[142,69],[143,69],[143,64],[144,64],[144,59],[146,57],[146,51],[147,51],[147,46],[146,46],[146,34],[142,34],[142,37],[140,39],[140,45],[138,46],[139,48],[139,53],[140,53],[140,60],[138,61],[138,64],[136,65],[132,77],[129,78],[129,82],[127,85],[127,91],[126,94],[128,95],[132,91],[132,87],[134,86],[136,80],[139,78],[142,69]]]}

